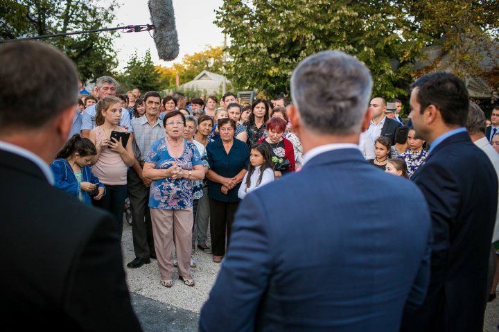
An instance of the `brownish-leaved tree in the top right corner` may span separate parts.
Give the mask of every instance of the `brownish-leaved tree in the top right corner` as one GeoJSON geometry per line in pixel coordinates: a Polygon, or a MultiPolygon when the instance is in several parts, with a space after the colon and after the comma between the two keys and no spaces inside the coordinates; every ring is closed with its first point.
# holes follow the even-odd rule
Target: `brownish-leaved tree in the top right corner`
{"type": "Polygon", "coordinates": [[[447,70],[466,78],[480,75],[497,91],[499,88],[498,1],[412,1],[408,7],[414,30],[428,49],[427,64],[414,76],[447,70]],[[437,56],[435,56],[437,54],[437,56]],[[434,56],[431,56],[434,55],[434,56]],[[485,64],[482,60],[488,58],[485,64]]]}

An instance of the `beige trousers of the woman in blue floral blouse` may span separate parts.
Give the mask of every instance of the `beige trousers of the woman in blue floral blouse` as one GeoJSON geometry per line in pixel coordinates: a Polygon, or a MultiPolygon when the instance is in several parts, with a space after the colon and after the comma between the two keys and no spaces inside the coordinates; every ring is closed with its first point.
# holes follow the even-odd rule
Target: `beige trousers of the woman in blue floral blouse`
{"type": "Polygon", "coordinates": [[[177,253],[178,274],[191,276],[192,207],[182,210],[150,209],[157,263],[161,280],[173,279],[173,241],[177,253]]]}

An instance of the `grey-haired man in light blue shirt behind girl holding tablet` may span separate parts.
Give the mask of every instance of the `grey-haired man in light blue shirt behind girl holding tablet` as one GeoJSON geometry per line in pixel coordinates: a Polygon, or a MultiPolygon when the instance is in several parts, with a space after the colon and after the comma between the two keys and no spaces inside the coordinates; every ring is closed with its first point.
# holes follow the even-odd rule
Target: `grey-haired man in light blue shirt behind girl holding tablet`
{"type": "MultiPolygon", "coordinates": [[[[96,85],[94,87],[94,93],[98,95],[98,99],[103,99],[107,96],[116,96],[116,85],[118,82],[110,76],[102,76],[97,78],[96,85]]],[[[83,111],[82,125],[81,125],[81,135],[82,137],[88,138],[90,130],[96,127],[95,116],[97,112],[97,104],[87,107],[83,111]]],[[[129,132],[133,132],[132,125],[130,125],[130,114],[124,108],[121,109],[121,121],[118,123],[121,127],[124,127],[129,132]]]]}

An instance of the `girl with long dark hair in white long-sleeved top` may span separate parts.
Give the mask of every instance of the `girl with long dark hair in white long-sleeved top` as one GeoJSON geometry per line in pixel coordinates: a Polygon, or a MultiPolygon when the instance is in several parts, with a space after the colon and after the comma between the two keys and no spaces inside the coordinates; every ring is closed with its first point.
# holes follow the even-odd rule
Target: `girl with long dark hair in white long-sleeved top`
{"type": "Polygon", "coordinates": [[[238,197],[245,198],[250,191],[274,181],[270,151],[263,143],[256,143],[249,152],[249,167],[238,190],[238,197]]]}

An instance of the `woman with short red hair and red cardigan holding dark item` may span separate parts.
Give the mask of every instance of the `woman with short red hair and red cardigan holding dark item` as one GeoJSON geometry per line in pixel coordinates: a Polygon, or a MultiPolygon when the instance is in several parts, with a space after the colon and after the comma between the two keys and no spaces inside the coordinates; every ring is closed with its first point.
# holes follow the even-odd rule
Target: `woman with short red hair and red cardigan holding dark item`
{"type": "Polygon", "coordinates": [[[275,177],[281,177],[286,173],[295,171],[295,148],[288,139],[283,137],[286,130],[286,121],[281,118],[270,118],[265,123],[268,137],[259,140],[268,146],[272,163],[274,164],[275,177]]]}

